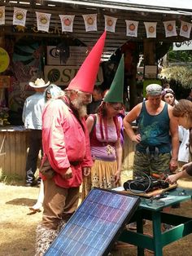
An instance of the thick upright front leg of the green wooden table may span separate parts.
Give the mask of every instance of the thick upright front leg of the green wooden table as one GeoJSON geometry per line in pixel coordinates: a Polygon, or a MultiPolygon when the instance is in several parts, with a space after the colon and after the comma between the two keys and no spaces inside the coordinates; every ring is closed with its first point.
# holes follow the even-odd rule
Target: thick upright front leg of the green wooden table
{"type": "Polygon", "coordinates": [[[163,256],[163,246],[161,239],[161,215],[160,212],[152,212],[153,241],[155,256],[163,256]]]}

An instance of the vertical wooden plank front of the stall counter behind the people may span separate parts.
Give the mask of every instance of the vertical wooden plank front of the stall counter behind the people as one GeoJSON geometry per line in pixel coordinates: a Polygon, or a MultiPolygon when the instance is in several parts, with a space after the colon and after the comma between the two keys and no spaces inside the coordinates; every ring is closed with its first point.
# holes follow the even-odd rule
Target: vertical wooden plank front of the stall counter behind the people
{"type": "MultiPolygon", "coordinates": [[[[133,168],[135,143],[124,133],[124,154],[122,170],[133,168]]],[[[25,178],[25,164],[28,152],[28,130],[0,128],[0,177],[18,175],[25,178]]]]}

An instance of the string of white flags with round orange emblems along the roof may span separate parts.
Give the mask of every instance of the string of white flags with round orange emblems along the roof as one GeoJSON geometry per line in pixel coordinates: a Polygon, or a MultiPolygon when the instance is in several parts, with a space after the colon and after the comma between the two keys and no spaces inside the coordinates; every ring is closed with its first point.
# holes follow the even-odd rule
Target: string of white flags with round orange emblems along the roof
{"type": "MultiPolygon", "coordinates": [[[[37,30],[49,32],[50,28],[50,13],[37,12],[37,30]]],[[[97,14],[82,15],[85,22],[85,31],[97,31],[97,14]]],[[[19,25],[25,27],[27,17],[27,10],[23,8],[14,7],[13,13],[13,25],[19,25]]],[[[72,32],[75,15],[59,15],[61,21],[62,32],[72,32]]],[[[111,33],[116,32],[115,17],[104,15],[105,30],[111,33]]],[[[137,20],[125,20],[126,23],[126,35],[129,37],[137,38],[137,30],[139,21],[137,20]]],[[[0,7],[0,25],[5,24],[5,7],[0,7]]],[[[163,21],[165,37],[177,36],[176,20],[163,21]]],[[[157,22],[144,22],[146,28],[146,38],[156,38],[157,22]]],[[[190,38],[192,24],[181,20],[181,27],[179,35],[181,37],[190,38]]]]}

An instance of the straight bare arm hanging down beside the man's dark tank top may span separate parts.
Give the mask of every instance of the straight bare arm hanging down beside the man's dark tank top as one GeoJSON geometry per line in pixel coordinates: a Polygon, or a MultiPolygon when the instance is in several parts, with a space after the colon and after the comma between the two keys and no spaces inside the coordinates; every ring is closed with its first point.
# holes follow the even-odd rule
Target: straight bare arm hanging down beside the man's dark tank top
{"type": "Polygon", "coordinates": [[[177,117],[172,116],[172,107],[168,105],[168,115],[170,118],[170,133],[172,137],[172,159],[169,167],[171,171],[177,169],[177,157],[179,151],[178,121],[177,117]]]}

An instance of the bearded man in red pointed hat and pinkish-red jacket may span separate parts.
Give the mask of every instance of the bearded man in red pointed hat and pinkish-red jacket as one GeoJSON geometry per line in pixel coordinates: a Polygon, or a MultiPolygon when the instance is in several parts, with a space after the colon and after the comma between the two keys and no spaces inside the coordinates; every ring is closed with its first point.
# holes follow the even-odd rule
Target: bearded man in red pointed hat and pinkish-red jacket
{"type": "Polygon", "coordinates": [[[44,255],[76,210],[82,176],[89,175],[93,164],[85,125],[86,105],[91,102],[105,38],[106,32],[89,52],[65,95],[50,101],[42,115],[41,170],[48,161],[54,172],[50,179],[42,175],[44,211],[37,227],[36,255],[44,255]]]}

